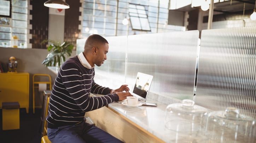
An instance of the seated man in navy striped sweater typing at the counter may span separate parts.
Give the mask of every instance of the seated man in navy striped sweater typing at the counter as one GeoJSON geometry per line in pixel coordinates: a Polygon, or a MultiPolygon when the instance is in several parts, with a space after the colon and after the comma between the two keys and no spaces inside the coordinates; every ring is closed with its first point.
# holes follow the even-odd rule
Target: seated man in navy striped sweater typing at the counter
{"type": "Polygon", "coordinates": [[[112,90],[94,83],[94,65],[101,66],[104,63],[108,50],[109,44],[105,38],[91,35],[85,42],[84,51],[61,66],[53,85],[46,117],[47,136],[52,143],[121,142],[84,120],[85,112],[132,96],[127,85],[112,90]],[[105,96],[91,97],[90,93],[105,96]]]}

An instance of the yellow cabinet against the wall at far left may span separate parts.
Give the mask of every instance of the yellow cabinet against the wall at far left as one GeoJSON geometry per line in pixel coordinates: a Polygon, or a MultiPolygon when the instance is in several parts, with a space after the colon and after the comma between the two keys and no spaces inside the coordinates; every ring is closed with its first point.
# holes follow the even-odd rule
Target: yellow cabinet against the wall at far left
{"type": "Polygon", "coordinates": [[[0,108],[2,102],[19,102],[29,109],[29,73],[0,73],[0,108]]]}

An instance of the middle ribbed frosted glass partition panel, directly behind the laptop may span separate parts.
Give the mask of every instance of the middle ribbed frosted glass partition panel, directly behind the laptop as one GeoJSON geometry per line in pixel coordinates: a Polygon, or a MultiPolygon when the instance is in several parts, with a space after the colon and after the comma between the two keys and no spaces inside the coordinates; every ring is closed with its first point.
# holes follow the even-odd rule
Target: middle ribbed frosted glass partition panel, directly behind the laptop
{"type": "Polygon", "coordinates": [[[137,72],[153,75],[150,91],[193,99],[199,31],[129,35],[126,82],[137,72]]]}

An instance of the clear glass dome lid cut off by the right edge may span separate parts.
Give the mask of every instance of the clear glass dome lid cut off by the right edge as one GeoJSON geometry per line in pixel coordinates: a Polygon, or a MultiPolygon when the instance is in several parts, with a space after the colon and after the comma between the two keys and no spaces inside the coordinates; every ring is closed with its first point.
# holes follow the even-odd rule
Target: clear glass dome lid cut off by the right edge
{"type": "Polygon", "coordinates": [[[225,111],[208,113],[205,133],[213,142],[256,142],[256,120],[243,115],[239,109],[228,107],[225,111]]]}

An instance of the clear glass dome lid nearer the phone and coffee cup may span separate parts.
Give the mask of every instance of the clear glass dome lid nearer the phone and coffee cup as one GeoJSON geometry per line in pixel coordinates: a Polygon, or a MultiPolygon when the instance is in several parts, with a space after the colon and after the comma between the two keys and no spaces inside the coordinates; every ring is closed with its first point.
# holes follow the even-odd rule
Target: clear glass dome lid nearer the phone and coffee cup
{"type": "Polygon", "coordinates": [[[194,104],[190,99],[170,104],[165,112],[165,128],[186,134],[198,134],[202,130],[203,117],[208,109],[194,104]]]}

